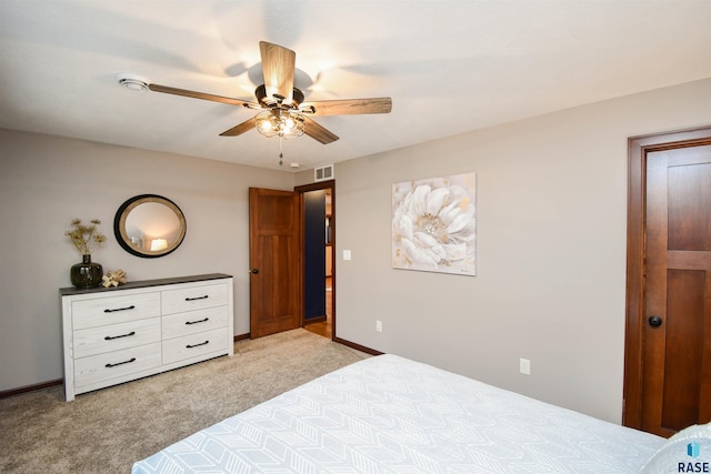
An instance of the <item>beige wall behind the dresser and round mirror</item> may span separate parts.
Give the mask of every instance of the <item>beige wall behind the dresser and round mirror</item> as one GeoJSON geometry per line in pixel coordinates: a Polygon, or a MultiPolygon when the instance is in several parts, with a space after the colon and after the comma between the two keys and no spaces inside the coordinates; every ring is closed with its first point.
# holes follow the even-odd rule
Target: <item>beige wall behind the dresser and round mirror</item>
{"type": "Polygon", "coordinates": [[[102,221],[94,252],[129,280],[234,275],[234,332],[249,332],[248,188],[293,189],[292,173],[0,130],[0,391],[62,377],[59,288],[81,255],[63,235],[73,218],[102,221]],[[113,236],[127,199],[164,195],[186,214],[182,245],[141,259],[113,236]]]}

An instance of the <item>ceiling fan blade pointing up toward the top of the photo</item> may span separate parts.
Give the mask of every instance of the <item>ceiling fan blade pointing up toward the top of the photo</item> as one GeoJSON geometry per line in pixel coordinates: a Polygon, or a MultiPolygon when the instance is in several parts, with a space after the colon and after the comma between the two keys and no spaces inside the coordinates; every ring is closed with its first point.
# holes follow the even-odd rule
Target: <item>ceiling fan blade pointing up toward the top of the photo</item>
{"type": "Polygon", "coordinates": [[[286,104],[293,100],[293,73],[297,67],[297,53],[279,44],[259,42],[262,57],[262,73],[267,97],[280,99],[286,104]]]}

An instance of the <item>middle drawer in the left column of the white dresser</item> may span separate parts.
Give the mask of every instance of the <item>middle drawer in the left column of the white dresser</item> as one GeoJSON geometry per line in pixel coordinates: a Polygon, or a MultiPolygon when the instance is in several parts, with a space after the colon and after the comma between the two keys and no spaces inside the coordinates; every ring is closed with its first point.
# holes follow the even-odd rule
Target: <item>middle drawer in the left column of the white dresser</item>
{"type": "Polygon", "coordinates": [[[159,342],[160,327],[160,317],[151,317],[74,331],[72,344],[74,357],[159,342]]]}

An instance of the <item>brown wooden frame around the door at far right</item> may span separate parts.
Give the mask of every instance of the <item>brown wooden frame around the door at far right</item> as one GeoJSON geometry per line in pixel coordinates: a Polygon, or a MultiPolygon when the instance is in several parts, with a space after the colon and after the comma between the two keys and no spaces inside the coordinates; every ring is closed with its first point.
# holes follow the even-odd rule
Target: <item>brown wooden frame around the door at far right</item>
{"type": "Polygon", "coordinates": [[[711,144],[711,127],[628,139],[627,313],[622,424],[642,426],[647,154],[711,144]]]}

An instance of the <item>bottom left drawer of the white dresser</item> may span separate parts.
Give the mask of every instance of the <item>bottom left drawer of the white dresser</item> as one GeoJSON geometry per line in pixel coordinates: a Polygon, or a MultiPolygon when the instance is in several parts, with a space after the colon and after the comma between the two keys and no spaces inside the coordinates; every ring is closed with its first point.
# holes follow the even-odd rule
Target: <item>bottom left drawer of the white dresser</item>
{"type": "Polygon", "coordinates": [[[160,366],[160,342],[74,360],[74,387],[93,385],[160,366]]]}

